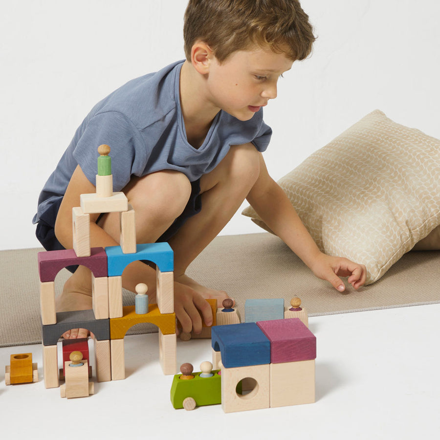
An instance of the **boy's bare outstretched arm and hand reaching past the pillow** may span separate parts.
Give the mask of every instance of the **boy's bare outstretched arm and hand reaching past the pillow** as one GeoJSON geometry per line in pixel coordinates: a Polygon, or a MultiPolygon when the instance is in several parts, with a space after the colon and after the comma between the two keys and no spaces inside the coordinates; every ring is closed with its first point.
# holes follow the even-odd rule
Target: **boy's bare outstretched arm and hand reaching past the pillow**
{"type": "Polygon", "coordinates": [[[365,283],[366,269],[340,257],[323,254],[308,233],[283,189],[269,176],[260,154],[260,176],[247,195],[247,201],[267,226],[295,252],[319,278],[329,281],[342,291],[339,276],[358,288],[365,283]]]}

